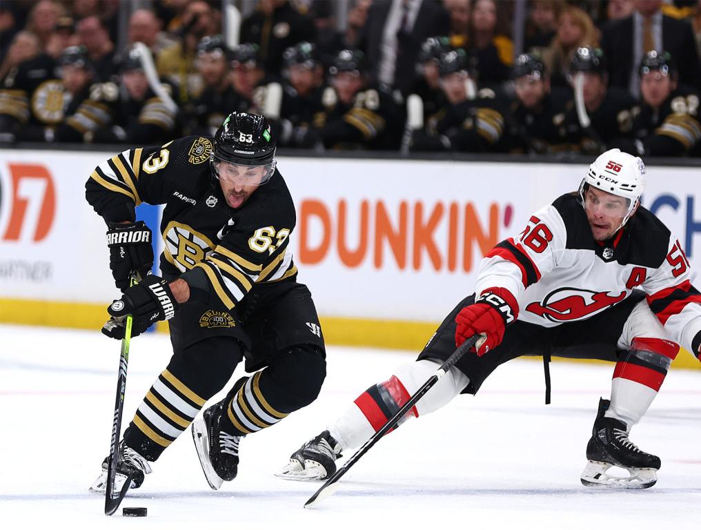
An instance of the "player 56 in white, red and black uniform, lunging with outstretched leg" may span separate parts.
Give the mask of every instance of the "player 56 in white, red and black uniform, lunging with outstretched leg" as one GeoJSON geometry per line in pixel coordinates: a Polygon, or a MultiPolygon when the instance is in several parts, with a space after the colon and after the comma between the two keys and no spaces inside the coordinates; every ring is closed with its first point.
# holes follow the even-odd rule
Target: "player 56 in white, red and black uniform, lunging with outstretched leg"
{"type": "MultiPolygon", "coordinates": [[[[657,480],[660,458],[629,440],[665,379],[679,345],[700,355],[701,295],[679,241],[640,205],[640,158],[612,149],[592,163],[579,191],[535,212],[519,236],[482,260],[475,294],[445,318],[416,362],[368,388],[320,435],[292,454],[278,476],[324,479],[341,451],[360,447],[468,337],[463,355],[405,416],[422,416],[460,393],[475,394],[498,366],[522,355],[615,362],[611,399],[599,401],[587,486],[640,489],[657,480]],[[606,471],[615,466],[628,477],[606,471]]],[[[401,422],[400,422],[401,423],[401,422]]]]}

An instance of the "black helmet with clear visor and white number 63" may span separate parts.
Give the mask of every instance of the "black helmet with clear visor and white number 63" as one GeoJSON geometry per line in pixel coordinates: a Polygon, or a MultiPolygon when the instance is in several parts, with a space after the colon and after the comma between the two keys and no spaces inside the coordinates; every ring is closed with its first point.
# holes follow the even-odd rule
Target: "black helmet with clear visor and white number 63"
{"type": "Polygon", "coordinates": [[[219,164],[265,166],[260,184],[265,184],[275,172],[275,139],[265,116],[248,112],[232,112],[226,116],[215,134],[210,155],[212,173],[219,178],[219,164]]]}

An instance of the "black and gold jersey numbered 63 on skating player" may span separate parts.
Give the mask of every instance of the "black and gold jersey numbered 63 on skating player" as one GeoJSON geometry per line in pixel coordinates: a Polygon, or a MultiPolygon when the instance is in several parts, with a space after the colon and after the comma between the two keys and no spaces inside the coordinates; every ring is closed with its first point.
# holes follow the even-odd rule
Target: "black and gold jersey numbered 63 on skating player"
{"type": "Polygon", "coordinates": [[[86,198],[107,222],[134,219],[142,202],[164,204],[163,276],[204,283],[231,311],[255,285],[297,278],[287,252],[296,217],[277,170],[241,208],[229,208],[211,175],[211,152],[212,139],[197,136],[128,149],[95,168],[86,198]]]}

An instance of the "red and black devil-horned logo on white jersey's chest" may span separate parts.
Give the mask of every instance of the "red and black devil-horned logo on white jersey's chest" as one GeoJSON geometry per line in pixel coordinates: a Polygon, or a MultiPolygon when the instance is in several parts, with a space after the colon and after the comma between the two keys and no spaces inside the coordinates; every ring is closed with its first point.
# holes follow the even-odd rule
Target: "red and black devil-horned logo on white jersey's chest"
{"type": "Polygon", "coordinates": [[[564,287],[548,294],[542,304],[538,302],[529,304],[526,306],[526,311],[552,322],[571,322],[604,311],[613,304],[618,304],[625,296],[625,291],[612,296],[610,291],[596,292],[564,287]]]}

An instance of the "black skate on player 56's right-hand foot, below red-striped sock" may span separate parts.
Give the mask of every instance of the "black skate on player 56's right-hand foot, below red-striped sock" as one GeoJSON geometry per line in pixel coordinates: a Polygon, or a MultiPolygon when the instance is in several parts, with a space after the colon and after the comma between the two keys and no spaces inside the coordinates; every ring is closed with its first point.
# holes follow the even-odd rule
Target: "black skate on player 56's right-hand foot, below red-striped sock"
{"type": "Polygon", "coordinates": [[[582,484],[627,489],[652,487],[657,482],[660,458],[641,451],[631,442],[625,423],[604,417],[609,403],[608,400],[599,400],[599,412],[587,443],[589,462],[582,472],[582,484]],[[629,477],[608,475],[606,471],[613,466],[626,470],[629,477]]]}

